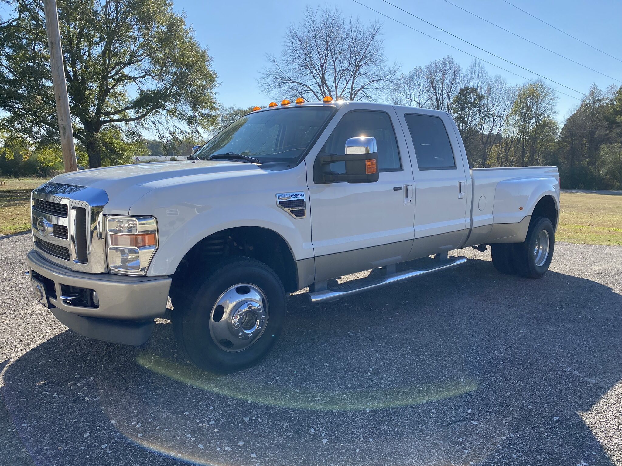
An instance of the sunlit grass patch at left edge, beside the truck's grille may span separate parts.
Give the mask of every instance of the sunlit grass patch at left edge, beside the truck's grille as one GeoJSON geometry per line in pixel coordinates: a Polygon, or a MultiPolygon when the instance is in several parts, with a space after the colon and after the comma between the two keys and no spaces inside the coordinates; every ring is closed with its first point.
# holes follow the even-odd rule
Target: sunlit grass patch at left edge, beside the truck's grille
{"type": "Polygon", "coordinates": [[[45,183],[43,178],[2,178],[0,185],[0,235],[30,230],[30,191],[45,183]]]}

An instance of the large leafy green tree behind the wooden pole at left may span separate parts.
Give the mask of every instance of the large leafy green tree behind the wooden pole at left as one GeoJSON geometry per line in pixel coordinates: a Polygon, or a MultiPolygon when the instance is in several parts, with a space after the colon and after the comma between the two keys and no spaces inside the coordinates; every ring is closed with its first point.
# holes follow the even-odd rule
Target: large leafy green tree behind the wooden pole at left
{"type": "MultiPolygon", "coordinates": [[[[211,58],[172,2],[59,0],[58,7],[74,135],[89,167],[114,162],[115,132],[131,146],[141,127],[167,133],[213,124],[211,58]]],[[[52,140],[58,127],[42,3],[7,0],[1,14],[1,124],[52,140]]]]}

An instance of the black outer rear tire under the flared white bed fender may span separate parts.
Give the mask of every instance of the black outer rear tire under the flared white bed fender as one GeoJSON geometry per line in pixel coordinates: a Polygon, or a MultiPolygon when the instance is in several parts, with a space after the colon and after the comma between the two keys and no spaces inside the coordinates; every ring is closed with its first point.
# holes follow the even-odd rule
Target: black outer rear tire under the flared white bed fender
{"type": "Polygon", "coordinates": [[[550,220],[546,217],[531,219],[524,242],[515,244],[513,248],[516,272],[527,278],[540,278],[549,270],[554,249],[555,231],[550,220]],[[541,232],[545,232],[544,236],[547,237],[548,241],[545,257],[544,255],[539,257],[536,252],[536,244],[540,244],[539,235],[541,232]]]}

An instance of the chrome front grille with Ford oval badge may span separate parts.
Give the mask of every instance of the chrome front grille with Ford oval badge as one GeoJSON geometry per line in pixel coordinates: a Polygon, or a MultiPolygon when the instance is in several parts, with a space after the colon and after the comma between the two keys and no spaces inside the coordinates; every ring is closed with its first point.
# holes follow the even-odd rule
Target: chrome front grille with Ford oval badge
{"type": "Polygon", "coordinates": [[[106,267],[103,190],[45,183],[32,191],[35,250],[50,262],[80,272],[104,273],[106,267]]]}

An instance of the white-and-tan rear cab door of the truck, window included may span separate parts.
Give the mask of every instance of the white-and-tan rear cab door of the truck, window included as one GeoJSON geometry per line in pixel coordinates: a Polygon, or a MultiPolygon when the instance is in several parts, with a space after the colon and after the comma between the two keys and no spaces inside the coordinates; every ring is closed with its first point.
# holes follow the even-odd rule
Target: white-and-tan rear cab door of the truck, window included
{"type": "Polygon", "coordinates": [[[415,247],[455,249],[466,234],[468,186],[452,121],[445,112],[397,107],[415,180],[415,247]]]}

